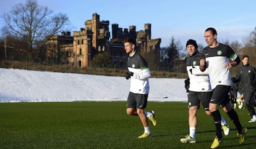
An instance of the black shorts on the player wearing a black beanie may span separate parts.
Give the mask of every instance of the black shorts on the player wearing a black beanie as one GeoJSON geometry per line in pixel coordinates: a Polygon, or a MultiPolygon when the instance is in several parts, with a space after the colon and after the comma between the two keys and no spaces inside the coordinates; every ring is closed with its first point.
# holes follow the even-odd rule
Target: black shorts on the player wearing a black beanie
{"type": "Polygon", "coordinates": [[[197,106],[200,108],[200,102],[202,102],[203,109],[209,111],[209,103],[212,92],[192,92],[189,91],[187,94],[189,107],[197,106]]]}

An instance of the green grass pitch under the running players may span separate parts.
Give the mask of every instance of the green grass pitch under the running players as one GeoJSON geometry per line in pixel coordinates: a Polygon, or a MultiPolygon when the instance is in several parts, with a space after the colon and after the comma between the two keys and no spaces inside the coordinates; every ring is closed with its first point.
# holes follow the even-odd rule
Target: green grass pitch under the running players
{"type": "MultiPolygon", "coordinates": [[[[189,133],[188,108],[183,102],[148,102],[155,110],[157,125],[150,124],[152,137],[143,133],[138,116],[126,115],[126,102],[0,103],[0,148],[210,148],[215,137],[213,118],[198,110],[197,143],[180,143],[189,133]]],[[[248,123],[247,109],[235,109],[248,128],[241,145],[236,128],[220,148],[255,148],[256,123],[248,123]]]]}

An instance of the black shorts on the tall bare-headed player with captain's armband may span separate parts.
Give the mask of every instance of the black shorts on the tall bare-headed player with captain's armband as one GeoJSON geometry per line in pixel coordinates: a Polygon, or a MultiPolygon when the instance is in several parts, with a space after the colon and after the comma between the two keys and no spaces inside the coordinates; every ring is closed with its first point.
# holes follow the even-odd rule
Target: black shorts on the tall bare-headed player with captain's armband
{"type": "Polygon", "coordinates": [[[228,92],[231,86],[218,85],[213,89],[213,95],[211,96],[210,103],[217,103],[222,107],[225,107],[230,102],[228,92]]]}

